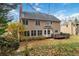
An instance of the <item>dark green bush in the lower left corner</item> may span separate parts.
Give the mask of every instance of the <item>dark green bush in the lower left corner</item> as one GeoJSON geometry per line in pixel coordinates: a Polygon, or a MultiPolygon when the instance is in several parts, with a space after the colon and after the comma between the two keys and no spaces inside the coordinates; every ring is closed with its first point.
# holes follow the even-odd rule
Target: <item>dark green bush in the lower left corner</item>
{"type": "Polygon", "coordinates": [[[13,55],[18,48],[17,39],[0,37],[0,55],[13,55]]]}

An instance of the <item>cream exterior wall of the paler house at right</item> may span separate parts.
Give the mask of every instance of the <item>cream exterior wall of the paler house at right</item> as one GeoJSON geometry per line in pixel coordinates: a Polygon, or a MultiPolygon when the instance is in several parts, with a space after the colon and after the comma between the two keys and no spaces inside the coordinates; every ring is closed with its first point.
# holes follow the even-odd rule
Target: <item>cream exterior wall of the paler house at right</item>
{"type": "Polygon", "coordinates": [[[61,25],[61,32],[69,33],[71,35],[76,35],[76,27],[72,25],[72,22],[69,22],[66,25],[61,25]]]}

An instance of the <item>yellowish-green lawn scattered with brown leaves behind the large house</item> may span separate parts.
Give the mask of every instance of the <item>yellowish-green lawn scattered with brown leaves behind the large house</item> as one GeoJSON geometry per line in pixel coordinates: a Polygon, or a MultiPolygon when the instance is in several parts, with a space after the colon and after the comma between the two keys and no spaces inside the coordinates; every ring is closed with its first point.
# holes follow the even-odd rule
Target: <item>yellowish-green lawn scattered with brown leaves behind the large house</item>
{"type": "Polygon", "coordinates": [[[30,41],[28,49],[31,56],[79,56],[79,36],[30,41]]]}

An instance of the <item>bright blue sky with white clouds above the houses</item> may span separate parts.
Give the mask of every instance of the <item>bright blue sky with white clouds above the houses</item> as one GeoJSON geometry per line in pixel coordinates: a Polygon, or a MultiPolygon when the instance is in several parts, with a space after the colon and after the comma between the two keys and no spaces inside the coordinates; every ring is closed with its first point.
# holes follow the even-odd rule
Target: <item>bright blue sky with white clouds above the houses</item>
{"type": "MultiPolygon", "coordinates": [[[[22,7],[25,12],[47,13],[59,19],[79,15],[79,3],[23,3],[22,7]]],[[[12,13],[17,15],[14,19],[19,19],[19,6],[12,13]]]]}

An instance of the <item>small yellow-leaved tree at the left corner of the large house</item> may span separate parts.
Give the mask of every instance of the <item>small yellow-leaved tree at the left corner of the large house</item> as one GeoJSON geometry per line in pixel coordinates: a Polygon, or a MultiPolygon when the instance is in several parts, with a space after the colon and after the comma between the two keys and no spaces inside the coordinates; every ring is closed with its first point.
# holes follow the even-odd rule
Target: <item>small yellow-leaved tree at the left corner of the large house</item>
{"type": "Polygon", "coordinates": [[[11,22],[10,24],[8,24],[7,31],[9,33],[12,33],[14,37],[21,39],[25,31],[25,27],[20,22],[11,22]]]}

